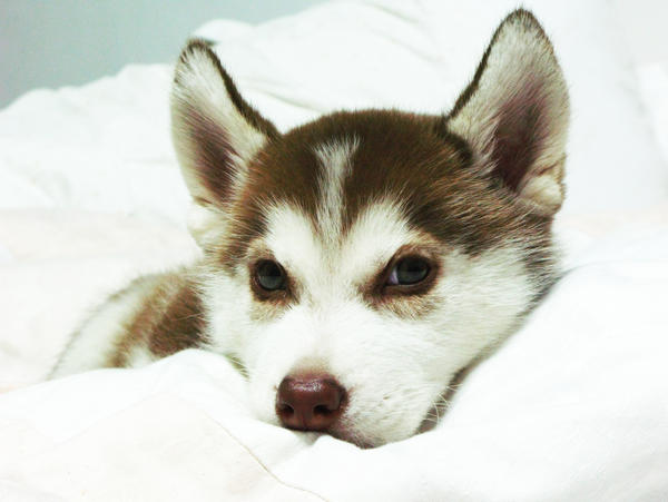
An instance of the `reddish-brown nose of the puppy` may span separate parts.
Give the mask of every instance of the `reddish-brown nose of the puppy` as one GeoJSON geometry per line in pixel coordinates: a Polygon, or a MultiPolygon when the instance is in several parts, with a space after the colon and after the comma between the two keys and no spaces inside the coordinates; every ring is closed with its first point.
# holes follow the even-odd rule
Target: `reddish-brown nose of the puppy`
{"type": "Polygon", "coordinates": [[[331,375],[289,375],[276,394],[276,414],[287,429],[324,431],[343,412],[345,390],[331,375]]]}

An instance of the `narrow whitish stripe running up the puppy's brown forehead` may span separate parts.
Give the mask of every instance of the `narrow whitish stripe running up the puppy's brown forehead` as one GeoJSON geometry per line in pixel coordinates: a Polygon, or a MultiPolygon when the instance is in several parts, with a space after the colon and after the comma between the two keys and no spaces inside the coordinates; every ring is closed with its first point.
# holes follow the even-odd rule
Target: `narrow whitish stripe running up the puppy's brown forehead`
{"type": "Polygon", "coordinates": [[[317,225],[323,240],[334,245],[341,235],[344,208],[343,187],[352,171],[352,158],[360,146],[356,137],[318,145],[314,152],[321,163],[317,225]]]}

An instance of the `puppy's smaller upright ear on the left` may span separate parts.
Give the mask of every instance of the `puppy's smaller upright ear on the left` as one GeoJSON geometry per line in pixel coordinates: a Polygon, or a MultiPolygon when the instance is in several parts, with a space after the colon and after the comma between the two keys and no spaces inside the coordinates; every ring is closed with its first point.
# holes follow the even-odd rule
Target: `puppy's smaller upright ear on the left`
{"type": "Polygon", "coordinates": [[[279,135],[242,98],[218,57],[203,41],[194,40],[183,50],[170,101],[174,146],[199,206],[196,228],[191,228],[198,237],[212,217],[219,219],[225,213],[244,184],[248,163],[279,135]]]}

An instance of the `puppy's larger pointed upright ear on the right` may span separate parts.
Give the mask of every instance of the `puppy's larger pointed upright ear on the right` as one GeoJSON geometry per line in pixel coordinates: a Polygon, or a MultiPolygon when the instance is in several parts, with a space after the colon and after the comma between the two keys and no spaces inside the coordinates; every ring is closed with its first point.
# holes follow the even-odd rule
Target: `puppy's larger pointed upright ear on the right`
{"type": "Polygon", "coordinates": [[[527,10],[497,29],[473,81],[446,117],[475,164],[532,210],[563,201],[568,90],[550,40],[527,10]]]}

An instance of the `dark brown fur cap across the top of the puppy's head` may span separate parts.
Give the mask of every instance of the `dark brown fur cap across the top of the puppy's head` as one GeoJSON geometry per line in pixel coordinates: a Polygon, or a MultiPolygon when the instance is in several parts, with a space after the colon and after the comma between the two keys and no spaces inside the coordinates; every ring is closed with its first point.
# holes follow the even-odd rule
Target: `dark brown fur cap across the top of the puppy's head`
{"type": "Polygon", "coordinates": [[[337,112],[269,141],[249,163],[243,193],[227,208],[235,238],[217,249],[219,262],[234,272],[246,259],[249,243],[264,232],[267,203],[292,204],[316,226],[318,179],[326,167],[313,146],[353,137],[360,146],[344,186],[344,230],[371,201],[387,197],[443,246],[477,255],[514,237],[528,243],[530,257],[536,245],[543,259],[551,217],[528,213],[501,180],[477,173],[462,141],[441,127],[436,117],[391,110],[337,112]]]}

